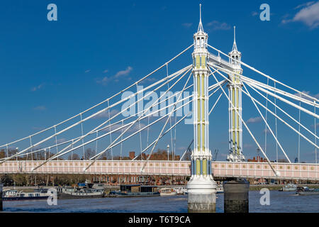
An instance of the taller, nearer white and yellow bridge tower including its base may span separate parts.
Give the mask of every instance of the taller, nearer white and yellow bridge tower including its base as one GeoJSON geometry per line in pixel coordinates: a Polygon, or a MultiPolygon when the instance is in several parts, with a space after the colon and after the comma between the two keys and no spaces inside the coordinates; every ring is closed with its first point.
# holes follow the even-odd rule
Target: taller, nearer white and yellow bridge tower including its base
{"type": "MultiPolygon", "coordinates": [[[[200,5],[201,7],[201,5],[200,5]]],[[[194,34],[194,150],[191,154],[191,179],[187,184],[189,212],[216,211],[216,182],[211,175],[211,150],[208,136],[208,35],[200,19],[194,34]]]]}

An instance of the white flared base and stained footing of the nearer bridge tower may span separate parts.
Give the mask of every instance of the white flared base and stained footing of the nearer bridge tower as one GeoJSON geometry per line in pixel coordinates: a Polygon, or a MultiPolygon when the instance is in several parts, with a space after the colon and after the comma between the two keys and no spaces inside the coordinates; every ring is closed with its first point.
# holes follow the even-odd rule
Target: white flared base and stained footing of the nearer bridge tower
{"type": "Polygon", "coordinates": [[[216,212],[216,182],[213,177],[192,176],[187,183],[189,213],[216,212]]]}

